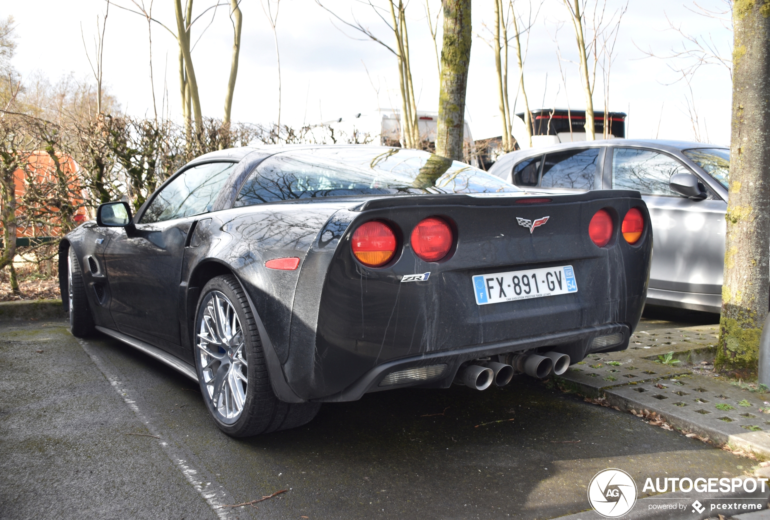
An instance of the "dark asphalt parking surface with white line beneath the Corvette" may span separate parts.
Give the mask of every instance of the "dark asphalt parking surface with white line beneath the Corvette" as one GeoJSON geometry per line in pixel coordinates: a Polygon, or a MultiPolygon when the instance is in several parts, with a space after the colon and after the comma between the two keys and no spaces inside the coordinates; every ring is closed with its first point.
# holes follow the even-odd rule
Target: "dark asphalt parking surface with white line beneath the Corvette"
{"type": "Polygon", "coordinates": [[[604,468],[751,465],[526,376],[367,394],[235,440],[192,381],[108,337],[79,341],[63,320],[0,324],[0,367],[2,518],[554,518],[588,509],[604,468]]]}

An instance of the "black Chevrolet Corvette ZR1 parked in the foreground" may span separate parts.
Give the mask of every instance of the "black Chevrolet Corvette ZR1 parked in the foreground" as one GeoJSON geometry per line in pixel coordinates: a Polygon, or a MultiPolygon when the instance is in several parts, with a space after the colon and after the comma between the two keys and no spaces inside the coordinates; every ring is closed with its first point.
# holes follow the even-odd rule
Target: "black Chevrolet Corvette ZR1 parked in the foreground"
{"type": "Polygon", "coordinates": [[[635,191],[525,192],[411,149],[244,147],[193,160],[134,216],[99,206],[62,240],[59,279],[72,334],[198,381],[243,437],[322,402],[623,350],[651,251],[635,191]]]}

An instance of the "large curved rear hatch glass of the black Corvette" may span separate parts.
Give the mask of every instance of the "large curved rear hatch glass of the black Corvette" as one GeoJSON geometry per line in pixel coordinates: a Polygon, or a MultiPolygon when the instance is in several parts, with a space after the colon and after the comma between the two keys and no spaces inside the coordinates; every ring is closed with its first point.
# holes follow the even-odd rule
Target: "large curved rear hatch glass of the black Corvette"
{"type": "Polygon", "coordinates": [[[330,147],[268,157],[246,179],[234,206],[323,196],[517,191],[481,169],[421,150],[330,147]]]}

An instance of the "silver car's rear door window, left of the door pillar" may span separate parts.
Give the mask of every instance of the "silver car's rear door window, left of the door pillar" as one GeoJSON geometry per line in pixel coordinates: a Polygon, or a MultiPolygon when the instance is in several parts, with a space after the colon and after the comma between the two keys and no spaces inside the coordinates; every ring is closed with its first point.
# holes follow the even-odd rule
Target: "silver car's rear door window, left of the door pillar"
{"type": "Polygon", "coordinates": [[[549,153],[543,163],[540,185],[543,188],[593,190],[598,163],[598,148],[549,153]]]}

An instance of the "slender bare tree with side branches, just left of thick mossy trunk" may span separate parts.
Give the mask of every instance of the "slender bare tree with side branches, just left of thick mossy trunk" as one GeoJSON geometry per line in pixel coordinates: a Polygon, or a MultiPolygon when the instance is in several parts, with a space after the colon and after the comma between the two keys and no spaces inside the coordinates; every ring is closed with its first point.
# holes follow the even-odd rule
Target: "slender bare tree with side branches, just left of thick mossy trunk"
{"type": "MultiPolygon", "coordinates": [[[[409,35],[407,32],[407,4],[403,0],[398,0],[398,3],[393,0],[388,0],[388,8],[382,8],[379,5],[374,5],[372,0],[366,0],[366,4],[373,9],[373,12],[380,17],[380,19],[388,26],[388,29],[393,32],[393,36],[396,39],[395,49],[387,43],[383,42],[374,32],[367,26],[363,25],[353,17],[353,22],[346,22],[339,15],[336,15],[329,8],[326,8],[320,0],[316,0],[316,3],[320,5],[326,12],[329,12],[334,18],[344,25],[347,25],[351,29],[355,29],[357,32],[363,34],[366,39],[370,39],[373,42],[377,42],[383,45],[385,49],[392,52],[396,56],[398,61],[398,79],[401,93],[401,141],[403,146],[407,148],[420,148],[422,141],[420,139],[420,129],[417,127],[417,100],[414,97],[414,85],[412,81],[412,68],[409,55],[409,35]],[[390,15],[390,20],[385,17],[390,15]]],[[[446,8],[444,8],[446,14],[446,8]]],[[[444,23],[446,25],[446,22],[444,23]]],[[[443,70],[444,63],[442,61],[441,68],[443,70]]]]}

